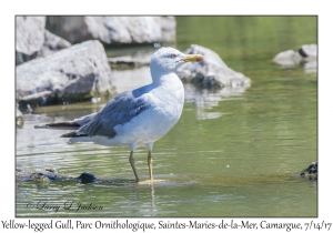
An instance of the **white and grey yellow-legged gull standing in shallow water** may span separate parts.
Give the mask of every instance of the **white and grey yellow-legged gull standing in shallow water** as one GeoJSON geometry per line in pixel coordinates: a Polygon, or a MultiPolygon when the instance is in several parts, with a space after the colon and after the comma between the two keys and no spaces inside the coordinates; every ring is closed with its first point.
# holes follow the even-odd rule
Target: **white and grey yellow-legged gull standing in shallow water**
{"type": "Polygon", "coordinates": [[[74,130],[61,135],[69,138],[69,143],[129,145],[131,149],[129,161],[137,182],[139,175],[133,151],[138,146],[147,146],[149,176],[152,180],[153,144],[174,126],[183,110],[184,88],[175,70],[184,62],[202,60],[203,57],[200,54],[184,54],[173,48],[161,48],[151,58],[151,84],[118,94],[98,113],[67,122],[39,124],[34,128],[74,130]]]}

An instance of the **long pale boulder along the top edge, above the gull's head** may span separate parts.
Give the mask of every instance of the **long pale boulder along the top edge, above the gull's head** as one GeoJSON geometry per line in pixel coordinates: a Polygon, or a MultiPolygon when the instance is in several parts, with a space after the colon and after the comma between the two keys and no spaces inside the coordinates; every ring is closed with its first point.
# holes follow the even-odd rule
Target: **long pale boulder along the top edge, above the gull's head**
{"type": "Polygon", "coordinates": [[[48,17],[47,29],[71,43],[98,39],[103,43],[174,41],[174,17],[48,17]]]}

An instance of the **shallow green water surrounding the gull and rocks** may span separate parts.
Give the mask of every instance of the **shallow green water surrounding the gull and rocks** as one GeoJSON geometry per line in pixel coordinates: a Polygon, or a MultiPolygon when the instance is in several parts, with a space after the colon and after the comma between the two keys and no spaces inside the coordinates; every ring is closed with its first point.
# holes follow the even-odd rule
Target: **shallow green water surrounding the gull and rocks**
{"type": "MultiPolygon", "coordinates": [[[[162,182],[135,184],[129,149],[69,145],[59,138],[64,131],[33,129],[99,111],[103,102],[40,108],[17,129],[17,165],[70,176],[88,171],[99,180],[18,184],[17,216],[316,216],[316,182],[295,174],[316,160],[317,79],[271,61],[280,51],[316,43],[316,18],[178,17],[176,47],[191,43],[216,51],[252,84],[238,91],[185,85],[179,123],[154,144],[153,174],[162,182]],[[61,207],[38,210],[44,202],[61,207]],[[72,210],[63,209],[65,202],[72,210]],[[102,210],[74,211],[79,202],[102,210]]],[[[134,156],[148,179],[145,149],[134,156]]]]}

